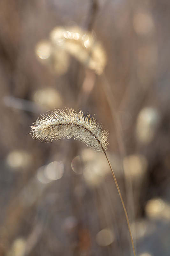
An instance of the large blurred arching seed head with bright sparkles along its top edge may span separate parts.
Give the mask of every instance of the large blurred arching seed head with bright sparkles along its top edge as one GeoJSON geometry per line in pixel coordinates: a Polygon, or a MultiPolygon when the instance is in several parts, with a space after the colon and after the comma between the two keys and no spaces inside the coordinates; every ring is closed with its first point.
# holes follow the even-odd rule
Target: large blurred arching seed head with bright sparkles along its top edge
{"type": "Polygon", "coordinates": [[[78,26],[56,27],[51,31],[50,39],[55,50],[64,49],[98,75],[103,72],[106,53],[94,33],[83,31],[78,26]]]}

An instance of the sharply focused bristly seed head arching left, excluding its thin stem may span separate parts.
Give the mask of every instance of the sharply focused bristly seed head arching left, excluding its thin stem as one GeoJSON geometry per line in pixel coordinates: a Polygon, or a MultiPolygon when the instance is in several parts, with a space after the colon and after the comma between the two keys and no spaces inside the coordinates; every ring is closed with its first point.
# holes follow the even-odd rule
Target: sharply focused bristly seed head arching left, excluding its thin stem
{"type": "Polygon", "coordinates": [[[66,109],[48,113],[39,118],[33,126],[31,133],[34,139],[45,141],[59,140],[61,138],[74,138],[85,143],[96,151],[107,149],[107,130],[96,123],[94,117],[81,110],[76,113],[73,109],[66,109]]]}

